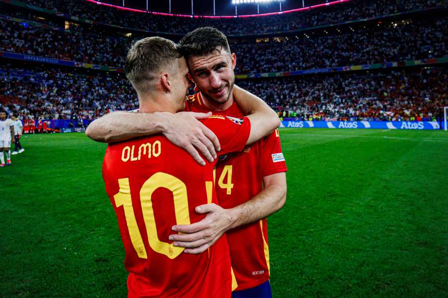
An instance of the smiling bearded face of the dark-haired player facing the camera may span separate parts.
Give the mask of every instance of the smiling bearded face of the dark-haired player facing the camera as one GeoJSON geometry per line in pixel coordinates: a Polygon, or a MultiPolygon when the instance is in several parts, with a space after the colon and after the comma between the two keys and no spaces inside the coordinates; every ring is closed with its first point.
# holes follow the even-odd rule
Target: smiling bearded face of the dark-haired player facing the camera
{"type": "Polygon", "coordinates": [[[204,56],[193,56],[188,59],[190,74],[201,90],[202,95],[216,103],[225,103],[232,97],[236,65],[236,55],[224,49],[204,56]]]}

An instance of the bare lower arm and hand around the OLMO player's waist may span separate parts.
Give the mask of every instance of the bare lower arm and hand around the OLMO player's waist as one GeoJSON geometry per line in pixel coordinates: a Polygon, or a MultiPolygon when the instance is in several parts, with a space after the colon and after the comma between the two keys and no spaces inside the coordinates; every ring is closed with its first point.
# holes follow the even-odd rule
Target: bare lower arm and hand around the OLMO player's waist
{"type": "Polygon", "coordinates": [[[264,190],[252,199],[230,209],[217,204],[196,207],[206,214],[201,221],[190,225],[175,225],[173,231],[184,234],[170,235],[174,246],[186,247],[184,252],[199,254],[212,246],[226,231],[255,222],[279,210],[286,201],[286,173],[263,177],[264,190]]]}

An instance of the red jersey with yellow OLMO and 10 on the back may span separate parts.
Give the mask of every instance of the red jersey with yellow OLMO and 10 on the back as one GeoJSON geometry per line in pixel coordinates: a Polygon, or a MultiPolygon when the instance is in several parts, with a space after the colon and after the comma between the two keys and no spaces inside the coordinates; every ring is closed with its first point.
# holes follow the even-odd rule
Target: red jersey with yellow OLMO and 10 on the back
{"type": "MultiPolygon", "coordinates": [[[[214,115],[203,123],[220,139],[220,154],[241,151],[249,137],[247,118],[214,115]]],[[[128,297],[230,297],[225,237],[198,255],[185,254],[168,240],[173,225],[205,217],[195,212],[196,206],[218,203],[215,164],[200,166],[163,135],[108,146],[103,179],[126,252],[128,297]]]]}

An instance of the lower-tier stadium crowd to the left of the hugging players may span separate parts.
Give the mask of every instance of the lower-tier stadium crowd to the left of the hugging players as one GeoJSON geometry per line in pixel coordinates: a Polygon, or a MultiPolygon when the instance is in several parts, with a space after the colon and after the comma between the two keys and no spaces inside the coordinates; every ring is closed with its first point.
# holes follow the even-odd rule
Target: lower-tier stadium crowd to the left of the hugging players
{"type": "Polygon", "coordinates": [[[0,68],[0,80],[0,107],[21,118],[95,119],[110,110],[138,106],[132,86],[116,74],[0,68]]]}

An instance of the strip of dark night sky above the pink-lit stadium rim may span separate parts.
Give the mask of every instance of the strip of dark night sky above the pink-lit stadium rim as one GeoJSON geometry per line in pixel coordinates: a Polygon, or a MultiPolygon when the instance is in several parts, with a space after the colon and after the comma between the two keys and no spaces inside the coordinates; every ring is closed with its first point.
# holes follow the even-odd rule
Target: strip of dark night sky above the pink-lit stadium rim
{"type": "MultiPolygon", "coordinates": [[[[115,5],[122,5],[122,0],[99,0],[106,3],[115,5]]],[[[314,5],[319,3],[329,2],[331,0],[305,0],[305,5],[314,5]]],[[[169,12],[169,0],[148,0],[149,10],[169,12]]],[[[146,9],[146,0],[124,0],[126,7],[146,9]]],[[[246,3],[239,4],[238,15],[241,14],[256,14],[257,4],[246,3]]],[[[293,8],[300,8],[303,6],[302,0],[284,0],[282,1],[282,10],[288,10],[293,8]]],[[[259,3],[260,13],[279,11],[279,3],[259,3]]],[[[213,15],[213,0],[193,0],[194,14],[199,15],[213,15]]],[[[235,5],[231,3],[231,0],[215,0],[216,15],[234,15],[235,5]]],[[[191,14],[191,0],[171,0],[171,12],[180,14],[191,14]]]]}

